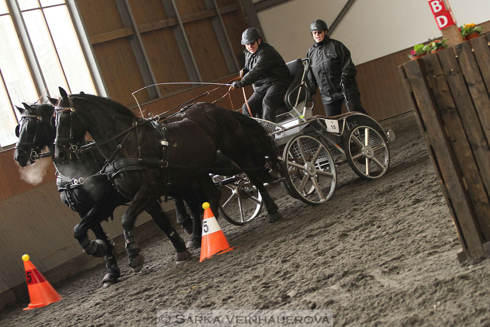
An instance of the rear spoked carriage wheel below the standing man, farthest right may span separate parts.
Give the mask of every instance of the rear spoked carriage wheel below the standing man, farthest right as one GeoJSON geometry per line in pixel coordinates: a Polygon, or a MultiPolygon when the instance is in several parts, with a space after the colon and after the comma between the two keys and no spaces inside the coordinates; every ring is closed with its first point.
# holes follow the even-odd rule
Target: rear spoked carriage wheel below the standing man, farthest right
{"type": "Polygon", "coordinates": [[[362,178],[377,179],[388,170],[388,146],[372,127],[356,126],[351,129],[345,138],[344,150],[349,166],[362,178]]]}

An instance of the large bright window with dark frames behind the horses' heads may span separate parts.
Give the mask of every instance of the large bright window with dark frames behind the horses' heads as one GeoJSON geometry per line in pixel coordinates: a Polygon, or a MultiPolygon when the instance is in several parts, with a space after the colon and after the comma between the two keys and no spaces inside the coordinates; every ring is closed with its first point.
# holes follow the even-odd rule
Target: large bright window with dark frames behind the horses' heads
{"type": "Polygon", "coordinates": [[[0,0],[0,147],[17,142],[15,106],[97,94],[65,0],[0,0]]]}

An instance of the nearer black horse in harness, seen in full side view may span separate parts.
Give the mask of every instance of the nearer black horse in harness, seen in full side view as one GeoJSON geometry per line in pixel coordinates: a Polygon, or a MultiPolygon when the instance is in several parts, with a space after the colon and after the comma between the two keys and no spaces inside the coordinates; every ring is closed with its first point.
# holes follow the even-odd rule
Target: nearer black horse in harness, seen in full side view
{"type": "MultiPolygon", "coordinates": [[[[217,105],[199,103],[159,124],[136,118],[127,107],[108,98],[68,96],[61,87],[60,94],[55,107],[56,158],[63,162],[74,159],[78,151],[73,145],[87,131],[93,137],[107,159],[104,172],[121,194],[132,199],[122,216],[131,266],[142,264],[134,238],[134,220],[150,201],[170,195],[189,203],[187,197],[192,195],[210,202],[217,214],[220,192],[209,176],[209,172],[216,171],[217,150],[233,160],[240,171],[247,172],[264,199],[269,221],[281,217],[263,186],[274,178],[265,169],[266,157],[279,174],[285,171],[277,157],[276,144],[253,119],[217,105]]],[[[200,227],[201,221],[195,219],[194,233],[200,233],[200,227]]]]}

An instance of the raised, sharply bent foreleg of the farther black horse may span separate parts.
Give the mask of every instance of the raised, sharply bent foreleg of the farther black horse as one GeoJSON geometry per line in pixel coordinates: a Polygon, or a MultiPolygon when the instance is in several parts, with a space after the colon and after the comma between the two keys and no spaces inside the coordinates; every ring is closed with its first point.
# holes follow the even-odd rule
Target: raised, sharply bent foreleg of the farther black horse
{"type": "Polygon", "coordinates": [[[87,230],[93,225],[95,217],[99,217],[99,215],[96,214],[97,211],[97,207],[92,207],[89,212],[83,216],[82,220],[75,225],[73,232],[74,237],[78,240],[78,243],[80,243],[85,253],[101,258],[107,254],[107,244],[100,239],[95,241],[89,240],[87,236],[87,230]]]}

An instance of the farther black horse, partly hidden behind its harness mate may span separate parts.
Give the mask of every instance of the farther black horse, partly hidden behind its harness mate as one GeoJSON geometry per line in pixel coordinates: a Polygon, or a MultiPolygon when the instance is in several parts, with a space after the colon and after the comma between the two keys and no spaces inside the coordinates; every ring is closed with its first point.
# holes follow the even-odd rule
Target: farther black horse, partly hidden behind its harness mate
{"type": "MultiPolygon", "coordinates": [[[[55,99],[50,99],[56,101],[55,99]]],[[[16,145],[14,159],[21,167],[32,164],[44,147],[54,153],[56,127],[51,124],[54,107],[50,104],[28,105],[24,109],[17,107],[21,114],[20,124],[16,129],[19,142],[16,145]]],[[[83,139],[83,144],[88,142],[83,139]]],[[[107,287],[117,282],[120,276],[116,258],[113,254],[113,243],[104,232],[101,222],[112,217],[114,209],[126,204],[128,199],[120,195],[105,175],[97,174],[103,168],[105,158],[98,151],[86,152],[79,160],[63,164],[52,157],[58,171],[57,186],[62,201],[81,217],[80,223],[74,228],[74,236],[82,245],[84,252],[93,256],[104,256],[107,273],[103,278],[103,286],[107,287]],[[80,179],[85,177],[85,179],[80,179]],[[89,177],[89,178],[87,178],[89,177]],[[97,240],[90,241],[87,230],[91,229],[97,240]]],[[[160,205],[152,204],[146,211],[156,218],[157,223],[163,215],[160,205]]],[[[183,203],[182,203],[183,206],[183,203]]],[[[192,224],[192,222],[190,222],[192,224]]],[[[160,226],[166,227],[160,223],[160,226]]],[[[191,232],[191,227],[189,232],[191,232]]],[[[168,231],[169,233],[172,230],[168,231]]],[[[182,242],[180,242],[182,243],[182,242]]],[[[190,258],[190,252],[185,250],[176,254],[176,262],[180,263],[190,258]]]]}

